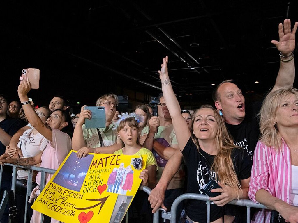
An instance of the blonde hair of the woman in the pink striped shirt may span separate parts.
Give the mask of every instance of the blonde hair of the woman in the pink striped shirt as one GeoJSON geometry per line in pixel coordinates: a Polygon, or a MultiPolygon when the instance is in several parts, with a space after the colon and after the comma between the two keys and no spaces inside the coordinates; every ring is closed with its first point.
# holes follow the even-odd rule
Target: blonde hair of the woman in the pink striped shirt
{"type": "Polygon", "coordinates": [[[280,88],[269,92],[263,101],[260,112],[257,114],[260,117],[260,141],[267,146],[274,147],[276,150],[279,150],[282,145],[282,136],[276,124],[276,112],[282,101],[291,94],[296,95],[298,98],[296,88],[280,88]]]}

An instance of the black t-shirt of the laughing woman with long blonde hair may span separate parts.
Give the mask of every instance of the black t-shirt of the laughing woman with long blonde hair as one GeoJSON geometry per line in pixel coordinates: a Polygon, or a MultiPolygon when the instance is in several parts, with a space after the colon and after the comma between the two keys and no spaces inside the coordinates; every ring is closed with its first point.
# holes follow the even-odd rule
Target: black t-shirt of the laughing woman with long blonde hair
{"type": "MultiPolygon", "coordinates": [[[[204,194],[204,186],[210,180],[207,168],[212,180],[217,180],[216,173],[210,170],[215,156],[209,155],[201,148],[199,151],[200,153],[191,138],[182,151],[187,165],[187,193],[204,194]]],[[[237,148],[233,149],[232,160],[239,181],[249,178],[252,161],[244,155],[244,151],[237,148]]],[[[186,202],[185,211],[187,216],[195,222],[204,223],[207,220],[207,203],[205,201],[189,199],[186,202]]],[[[222,208],[216,204],[211,204],[210,222],[219,219],[221,216],[222,208]]]]}

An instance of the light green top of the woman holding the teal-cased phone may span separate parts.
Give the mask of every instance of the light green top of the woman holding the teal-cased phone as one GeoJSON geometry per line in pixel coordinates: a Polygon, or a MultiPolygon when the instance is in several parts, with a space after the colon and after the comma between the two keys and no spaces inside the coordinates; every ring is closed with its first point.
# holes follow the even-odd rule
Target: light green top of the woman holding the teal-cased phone
{"type": "MultiPolygon", "coordinates": [[[[101,137],[103,138],[103,144],[105,146],[111,146],[117,143],[117,129],[112,129],[114,124],[112,123],[108,127],[99,128],[101,137]]],[[[100,147],[100,141],[96,128],[85,128],[85,124],[82,126],[84,140],[87,147],[96,148],[100,147]]]]}

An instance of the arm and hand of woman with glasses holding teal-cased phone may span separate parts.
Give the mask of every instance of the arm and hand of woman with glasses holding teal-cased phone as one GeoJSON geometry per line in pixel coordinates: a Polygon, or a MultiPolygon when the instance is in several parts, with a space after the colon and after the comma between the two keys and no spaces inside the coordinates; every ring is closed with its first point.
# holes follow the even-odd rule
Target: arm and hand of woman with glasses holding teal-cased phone
{"type": "Polygon", "coordinates": [[[85,123],[85,118],[90,120],[92,117],[92,112],[90,110],[84,110],[84,107],[86,107],[86,105],[81,108],[77,124],[75,125],[75,131],[72,136],[72,149],[76,151],[86,146],[86,141],[83,134],[83,124],[85,123]]]}

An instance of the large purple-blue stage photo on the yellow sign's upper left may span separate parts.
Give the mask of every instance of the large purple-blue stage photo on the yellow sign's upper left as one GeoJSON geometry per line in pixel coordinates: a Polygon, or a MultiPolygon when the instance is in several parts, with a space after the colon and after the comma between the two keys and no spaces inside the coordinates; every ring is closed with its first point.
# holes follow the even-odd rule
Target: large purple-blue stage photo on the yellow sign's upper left
{"type": "Polygon", "coordinates": [[[53,182],[67,189],[80,191],[93,157],[89,154],[79,159],[76,153],[70,154],[53,182]]]}

